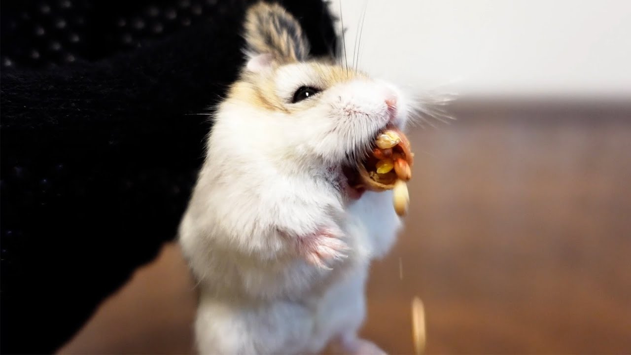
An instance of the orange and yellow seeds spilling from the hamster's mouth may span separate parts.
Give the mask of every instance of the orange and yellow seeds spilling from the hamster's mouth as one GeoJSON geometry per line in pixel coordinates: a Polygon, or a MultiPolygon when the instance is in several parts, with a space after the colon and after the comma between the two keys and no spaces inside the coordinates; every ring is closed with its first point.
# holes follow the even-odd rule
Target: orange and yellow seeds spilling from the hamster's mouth
{"type": "Polygon", "coordinates": [[[392,191],[392,204],[399,216],[406,215],[410,196],[406,182],[412,178],[414,153],[410,141],[396,128],[377,136],[375,148],[357,165],[358,176],[351,184],[355,189],[392,191]]]}

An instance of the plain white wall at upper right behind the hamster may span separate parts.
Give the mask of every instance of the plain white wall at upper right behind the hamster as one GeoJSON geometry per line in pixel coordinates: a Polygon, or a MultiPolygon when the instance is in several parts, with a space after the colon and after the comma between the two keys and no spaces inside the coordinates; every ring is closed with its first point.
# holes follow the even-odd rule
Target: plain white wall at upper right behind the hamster
{"type": "Polygon", "coordinates": [[[631,0],[334,0],[348,61],[462,96],[631,98],[631,0]]]}

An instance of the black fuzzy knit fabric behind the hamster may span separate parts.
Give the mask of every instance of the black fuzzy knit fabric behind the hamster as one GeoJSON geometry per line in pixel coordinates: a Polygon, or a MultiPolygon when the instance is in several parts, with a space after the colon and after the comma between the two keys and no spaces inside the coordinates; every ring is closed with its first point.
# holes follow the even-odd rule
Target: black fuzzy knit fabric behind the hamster
{"type": "MultiPolygon", "coordinates": [[[[56,351],[175,237],[248,3],[1,2],[3,354],[56,351]]],[[[326,4],[281,3],[336,47],[326,4]]]]}

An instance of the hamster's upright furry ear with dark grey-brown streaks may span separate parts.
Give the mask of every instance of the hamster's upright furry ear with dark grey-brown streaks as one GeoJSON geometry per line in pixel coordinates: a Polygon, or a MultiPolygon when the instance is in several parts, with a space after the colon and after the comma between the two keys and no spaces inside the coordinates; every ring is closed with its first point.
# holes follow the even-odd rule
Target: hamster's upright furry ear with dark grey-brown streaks
{"type": "Polygon", "coordinates": [[[271,54],[274,61],[287,63],[304,61],[309,54],[300,23],[279,4],[261,2],[248,9],[245,42],[251,60],[257,54],[271,54]]]}

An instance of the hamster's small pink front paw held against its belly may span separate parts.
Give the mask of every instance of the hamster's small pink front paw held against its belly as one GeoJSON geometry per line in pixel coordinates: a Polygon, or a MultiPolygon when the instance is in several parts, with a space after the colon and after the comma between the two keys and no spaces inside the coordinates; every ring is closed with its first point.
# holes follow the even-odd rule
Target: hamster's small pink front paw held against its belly
{"type": "Polygon", "coordinates": [[[312,265],[331,270],[325,262],[346,258],[345,251],[349,249],[340,239],[341,236],[341,232],[334,229],[322,228],[313,234],[299,237],[298,254],[312,265]]]}

